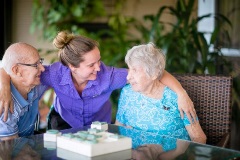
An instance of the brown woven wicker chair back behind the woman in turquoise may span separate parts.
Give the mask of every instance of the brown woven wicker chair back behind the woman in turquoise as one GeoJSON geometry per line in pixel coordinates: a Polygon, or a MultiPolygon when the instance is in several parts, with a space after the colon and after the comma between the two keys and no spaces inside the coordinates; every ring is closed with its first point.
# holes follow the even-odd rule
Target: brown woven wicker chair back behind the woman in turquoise
{"type": "Polygon", "coordinates": [[[207,144],[229,147],[232,77],[173,74],[194,103],[207,144]]]}

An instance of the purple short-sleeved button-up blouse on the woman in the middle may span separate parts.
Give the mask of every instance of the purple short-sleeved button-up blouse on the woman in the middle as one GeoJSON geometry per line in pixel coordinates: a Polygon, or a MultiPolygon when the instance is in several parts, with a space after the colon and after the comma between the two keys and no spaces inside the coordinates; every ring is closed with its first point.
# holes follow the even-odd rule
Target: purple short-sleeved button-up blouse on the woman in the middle
{"type": "Polygon", "coordinates": [[[88,81],[80,96],[73,84],[71,71],[60,62],[45,66],[41,82],[56,93],[55,110],[72,127],[90,125],[93,121],[111,122],[110,95],[126,83],[127,69],[106,66],[101,62],[94,81],[88,81]]]}

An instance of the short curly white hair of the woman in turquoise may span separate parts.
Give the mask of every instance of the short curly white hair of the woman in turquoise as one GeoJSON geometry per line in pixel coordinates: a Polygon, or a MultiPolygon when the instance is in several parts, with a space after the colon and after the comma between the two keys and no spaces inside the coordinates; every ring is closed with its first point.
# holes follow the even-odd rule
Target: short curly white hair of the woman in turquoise
{"type": "Polygon", "coordinates": [[[128,50],[125,62],[128,66],[141,65],[149,77],[156,76],[158,79],[162,77],[166,64],[164,53],[152,42],[128,50]]]}

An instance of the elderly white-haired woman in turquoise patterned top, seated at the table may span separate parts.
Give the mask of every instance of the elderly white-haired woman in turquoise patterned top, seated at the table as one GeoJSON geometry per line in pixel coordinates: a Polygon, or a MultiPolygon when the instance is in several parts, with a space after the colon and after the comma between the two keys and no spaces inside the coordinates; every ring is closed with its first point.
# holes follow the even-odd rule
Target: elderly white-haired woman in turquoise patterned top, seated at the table
{"type": "Polygon", "coordinates": [[[153,43],[135,46],[125,62],[130,84],[121,91],[116,124],[206,143],[199,121],[191,124],[186,115],[181,119],[177,94],[159,81],[165,69],[163,52],[153,43]]]}

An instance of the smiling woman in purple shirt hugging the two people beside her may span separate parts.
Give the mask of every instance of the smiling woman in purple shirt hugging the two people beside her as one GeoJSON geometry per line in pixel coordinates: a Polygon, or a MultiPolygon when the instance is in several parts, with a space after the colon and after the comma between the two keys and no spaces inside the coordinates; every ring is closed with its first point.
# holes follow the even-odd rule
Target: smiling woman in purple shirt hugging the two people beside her
{"type": "MultiPolygon", "coordinates": [[[[82,127],[93,121],[111,123],[109,97],[115,89],[126,85],[127,69],[101,62],[98,43],[90,38],[61,31],[53,44],[59,49],[60,62],[45,66],[41,74],[41,82],[56,93],[52,128],[82,127]]],[[[10,93],[6,91],[9,78],[0,73],[0,114],[3,108],[5,114],[10,104],[10,93]]],[[[161,82],[178,93],[180,109],[189,119],[195,118],[192,101],[180,83],[166,71],[161,82]]]]}

